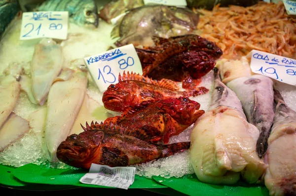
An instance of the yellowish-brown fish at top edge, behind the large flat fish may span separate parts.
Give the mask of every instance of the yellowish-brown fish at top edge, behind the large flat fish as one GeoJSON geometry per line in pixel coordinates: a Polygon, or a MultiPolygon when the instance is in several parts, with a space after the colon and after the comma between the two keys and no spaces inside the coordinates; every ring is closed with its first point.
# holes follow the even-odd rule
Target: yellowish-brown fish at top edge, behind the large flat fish
{"type": "Polygon", "coordinates": [[[144,5],[143,0],[111,0],[99,11],[99,17],[107,23],[111,23],[111,19],[124,14],[132,8],[141,7],[142,5],[144,5]]]}

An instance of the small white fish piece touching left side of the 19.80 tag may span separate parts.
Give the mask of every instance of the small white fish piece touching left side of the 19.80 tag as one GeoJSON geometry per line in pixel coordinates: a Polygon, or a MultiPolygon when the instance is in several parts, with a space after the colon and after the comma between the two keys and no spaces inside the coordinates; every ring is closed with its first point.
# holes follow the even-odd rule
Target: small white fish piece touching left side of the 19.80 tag
{"type": "Polygon", "coordinates": [[[224,84],[236,78],[252,75],[249,61],[245,56],[242,56],[239,60],[222,59],[217,62],[216,67],[220,70],[220,77],[224,84]]]}

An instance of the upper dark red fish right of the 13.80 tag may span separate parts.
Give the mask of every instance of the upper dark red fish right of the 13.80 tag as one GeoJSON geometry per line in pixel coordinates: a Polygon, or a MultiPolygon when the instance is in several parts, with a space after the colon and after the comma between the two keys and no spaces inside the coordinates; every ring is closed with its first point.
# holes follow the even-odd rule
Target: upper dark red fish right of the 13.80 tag
{"type": "MultiPolygon", "coordinates": [[[[153,40],[155,46],[145,47],[144,51],[137,49],[143,67],[143,76],[148,76],[149,73],[166,63],[166,61],[188,51],[203,51],[214,59],[222,56],[222,50],[215,43],[194,34],[175,36],[169,39],[154,37],[153,40]]],[[[186,60],[186,55],[179,57],[186,60]]],[[[192,61],[194,62],[193,59],[192,61]]]]}

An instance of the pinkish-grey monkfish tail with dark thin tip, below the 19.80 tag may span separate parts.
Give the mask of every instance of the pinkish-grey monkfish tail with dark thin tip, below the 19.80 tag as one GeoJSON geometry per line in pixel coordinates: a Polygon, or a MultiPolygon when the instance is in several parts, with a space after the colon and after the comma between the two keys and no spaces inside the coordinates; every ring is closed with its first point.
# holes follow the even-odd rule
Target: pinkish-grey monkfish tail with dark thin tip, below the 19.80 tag
{"type": "Polygon", "coordinates": [[[273,123],[273,82],[263,75],[240,77],[227,83],[242,103],[248,122],[255,125],[260,135],[256,151],[261,158],[267,149],[267,139],[273,123]]]}

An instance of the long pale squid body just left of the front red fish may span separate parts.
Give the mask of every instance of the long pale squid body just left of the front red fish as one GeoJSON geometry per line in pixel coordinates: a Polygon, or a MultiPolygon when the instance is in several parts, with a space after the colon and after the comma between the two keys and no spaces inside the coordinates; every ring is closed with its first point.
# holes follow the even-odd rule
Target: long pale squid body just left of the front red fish
{"type": "Polygon", "coordinates": [[[87,74],[77,71],[67,81],[52,84],[47,99],[45,143],[49,161],[55,162],[59,144],[69,136],[81,108],[87,87],[87,74]]]}

